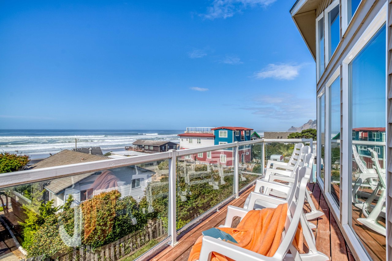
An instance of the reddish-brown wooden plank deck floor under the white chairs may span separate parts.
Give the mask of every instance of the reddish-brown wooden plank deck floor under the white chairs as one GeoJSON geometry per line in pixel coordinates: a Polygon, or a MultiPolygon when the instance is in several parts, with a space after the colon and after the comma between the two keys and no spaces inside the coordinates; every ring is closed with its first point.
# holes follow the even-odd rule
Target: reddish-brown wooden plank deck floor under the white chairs
{"type": "MultiPolygon", "coordinates": [[[[316,207],[325,213],[324,216],[319,217],[311,221],[317,228],[314,231],[316,237],[316,246],[320,252],[323,252],[330,257],[330,260],[354,260],[348,246],[341,234],[339,227],[330,213],[327,202],[320,188],[317,184],[308,184],[308,188],[313,192],[312,199],[316,207]],[[333,247],[331,247],[333,246],[333,247]]],[[[229,205],[234,205],[242,207],[245,199],[253,191],[254,187],[250,187],[248,190],[241,194],[241,197],[235,199],[229,203],[229,205]]],[[[307,211],[307,205],[305,205],[305,210],[307,211]]],[[[178,244],[174,247],[167,246],[154,257],[150,257],[151,261],[182,261],[187,260],[189,252],[196,241],[196,239],[201,236],[201,232],[212,227],[218,227],[225,222],[227,213],[227,206],[220,209],[219,212],[215,212],[207,219],[202,221],[196,227],[191,230],[184,232],[180,235],[181,238],[178,240],[178,244]]],[[[306,248],[306,247],[305,247],[306,248]]]]}

